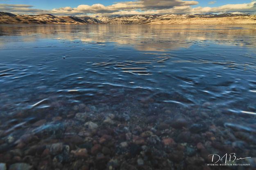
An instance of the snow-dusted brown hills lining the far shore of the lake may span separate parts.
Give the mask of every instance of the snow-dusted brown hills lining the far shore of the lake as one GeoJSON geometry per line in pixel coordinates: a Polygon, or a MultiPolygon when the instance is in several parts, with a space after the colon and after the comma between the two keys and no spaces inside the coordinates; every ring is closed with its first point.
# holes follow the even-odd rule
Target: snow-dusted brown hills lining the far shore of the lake
{"type": "Polygon", "coordinates": [[[51,14],[15,15],[0,12],[0,24],[256,24],[256,15],[130,15],[130,16],[54,16],[51,14]]]}

